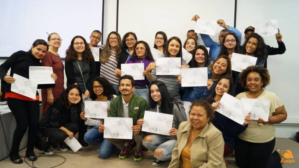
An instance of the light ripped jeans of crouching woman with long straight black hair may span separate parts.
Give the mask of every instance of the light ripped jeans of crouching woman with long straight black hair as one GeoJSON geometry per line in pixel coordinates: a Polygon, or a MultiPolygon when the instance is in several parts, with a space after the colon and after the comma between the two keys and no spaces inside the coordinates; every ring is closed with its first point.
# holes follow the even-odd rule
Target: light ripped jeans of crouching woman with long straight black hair
{"type": "Polygon", "coordinates": [[[142,141],[143,146],[147,149],[155,152],[155,149],[159,148],[163,151],[163,155],[155,156],[155,158],[159,159],[160,161],[168,161],[171,160],[171,154],[174,149],[174,146],[177,143],[177,140],[174,139],[166,139],[162,135],[152,135],[154,140],[152,142],[145,142],[142,141]]]}

